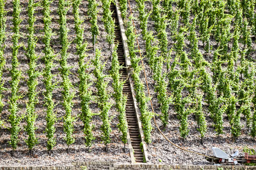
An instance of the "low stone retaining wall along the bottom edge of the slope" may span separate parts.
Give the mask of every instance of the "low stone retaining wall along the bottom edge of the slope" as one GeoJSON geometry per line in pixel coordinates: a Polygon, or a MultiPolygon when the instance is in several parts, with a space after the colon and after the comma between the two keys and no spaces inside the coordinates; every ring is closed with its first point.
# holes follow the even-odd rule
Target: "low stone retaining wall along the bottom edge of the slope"
{"type": "Polygon", "coordinates": [[[154,164],[117,164],[115,162],[73,162],[73,166],[19,166],[19,167],[1,167],[0,162],[0,170],[160,170],[160,169],[192,169],[192,170],[253,170],[256,169],[256,166],[234,166],[234,165],[224,165],[224,166],[216,166],[216,165],[154,165],[154,164]]]}

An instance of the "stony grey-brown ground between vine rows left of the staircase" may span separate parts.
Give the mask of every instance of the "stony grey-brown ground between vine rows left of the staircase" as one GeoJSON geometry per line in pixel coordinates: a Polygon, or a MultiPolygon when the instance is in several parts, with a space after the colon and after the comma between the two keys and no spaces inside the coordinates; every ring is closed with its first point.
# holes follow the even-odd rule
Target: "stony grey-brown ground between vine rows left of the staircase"
{"type": "MultiPolygon", "coordinates": [[[[39,2],[39,1],[36,1],[39,2]]],[[[20,4],[22,5],[22,12],[20,13],[20,18],[22,19],[22,23],[20,24],[20,34],[22,37],[20,38],[20,43],[23,43],[24,46],[27,46],[27,6],[28,1],[20,1],[20,4]]],[[[90,22],[89,18],[87,17],[87,1],[83,1],[81,4],[81,16],[84,17],[84,27],[85,27],[85,35],[86,41],[88,43],[88,49],[89,51],[87,54],[89,55],[87,58],[87,61],[90,59],[93,59],[93,46],[92,46],[92,35],[90,33],[90,22]]],[[[55,74],[54,80],[55,82],[60,85],[60,82],[62,81],[60,72],[58,69],[60,68],[60,65],[58,64],[58,59],[60,59],[60,40],[58,40],[58,14],[57,14],[57,8],[58,8],[58,1],[54,1],[51,6],[51,16],[52,16],[52,30],[54,31],[55,35],[52,37],[52,48],[54,49],[55,53],[57,54],[57,57],[55,58],[54,63],[56,66],[52,70],[52,73],[55,74]]],[[[39,103],[36,106],[36,112],[38,115],[38,118],[36,120],[36,134],[37,138],[39,139],[39,144],[36,145],[33,154],[33,157],[29,156],[27,145],[25,144],[25,139],[27,139],[27,133],[24,132],[23,126],[25,125],[25,121],[22,121],[20,124],[20,127],[22,127],[21,132],[19,133],[19,144],[17,147],[17,150],[14,153],[14,156],[11,156],[11,146],[8,144],[8,141],[10,141],[10,132],[8,131],[8,128],[10,127],[10,124],[7,122],[8,115],[10,114],[8,112],[8,99],[10,98],[10,69],[11,69],[11,36],[13,35],[11,28],[13,26],[13,23],[11,21],[12,19],[12,13],[13,13],[13,4],[10,0],[7,0],[7,4],[5,9],[8,11],[7,13],[7,40],[5,41],[6,49],[5,49],[5,56],[7,60],[6,68],[4,71],[4,80],[5,80],[5,88],[7,88],[7,91],[4,91],[4,111],[1,114],[1,118],[5,121],[5,128],[0,130],[0,166],[20,166],[20,165],[27,165],[27,166],[39,166],[39,165],[71,165],[72,161],[114,161],[114,162],[131,162],[130,159],[130,153],[128,150],[128,146],[126,145],[126,151],[123,153],[123,144],[122,141],[120,141],[120,133],[117,129],[117,112],[115,107],[113,106],[110,110],[110,117],[113,117],[113,120],[111,121],[111,129],[113,132],[111,133],[111,144],[109,144],[108,152],[105,152],[105,145],[102,143],[101,140],[101,130],[99,129],[101,127],[101,120],[99,116],[93,117],[92,124],[95,126],[93,130],[93,135],[95,136],[95,144],[90,148],[91,151],[89,152],[87,148],[84,145],[84,135],[83,135],[83,123],[78,118],[75,122],[75,143],[71,145],[70,147],[70,153],[66,153],[67,145],[64,141],[64,132],[63,132],[63,120],[61,119],[64,116],[64,108],[61,105],[62,97],[61,97],[61,87],[58,87],[54,90],[53,96],[54,96],[54,102],[55,102],[55,113],[57,117],[60,119],[58,120],[56,126],[56,133],[55,137],[57,138],[57,145],[54,147],[52,156],[48,156],[48,151],[46,149],[46,134],[44,133],[45,126],[46,126],[46,108],[43,106],[43,91],[45,91],[45,85],[43,84],[43,76],[39,77],[39,85],[37,88],[37,91],[39,91],[39,103]]],[[[106,41],[106,35],[103,22],[101,21],[102,18],[102,5],[99,1],[98,6],[98,26],[99,26],[99,32],[100,35],[98,37],[98,43],[96,44],[96,47],[98,47],[101,50],[102,54],[102,62],[105,62],[105,74],[108,74],[108,71],[110,70],[111,61],[110,61],[110,50],[108,49],[108,43],[106,41]]],[[[37,41],[37,47],[36,52],[37,55],[40,56],[38,61],[38,70],[43,70],[45,67],[45,64],[43,60],[41,59],[44,53],[43,50],[43,43],[42,43],[42,37],[43,37],[43,13],[42,13],[42,7],[36,8],[36,36],[38,38],[37,41]]],[[[75,39],[75,30],[74,30],[74,22],[73,22],[73,14],[72,14],[72,8],[67,13],[67,27],[69,28],[69,41],[73,41],[75,39]]],[[[75,55],[76,52],[76,45],[75,43],[71,43],[69,47],[69,58],[68,58],[68,64],[69,66],[72,66],[71,73],[69,78],[71,82],[73,83],[73,90],[76,93],[75,98],[73,99],[73,116],[77,116],[81,112],[80,107],[80,98],[78,97],[78,56],[75,55]]],[[[28,88],[27,88],[27,80],[28,80],[28,59],[24,55],[25,50],[23,48],[20,48],[19,50],[19,62],[20,66],[19,69],[22,70],[22,80],[20,81],[20,94],[27,94],[28,88]]],[[[93,67],[90,68],[89,71],[92,72],[93,67]]],[[[95,77],[92,76],[93,79],[95,77]]],[[[111,87],[111,79],[109,86],[107,87],[107,90],[109,93],[113,93],[113,88],[111,87]]],[[[92,85],[93,94],[96,94],[96,88],[95,85],[92,85]]],[[[28,101],[28,97],[25,95],[22,99],[18,101],[19,103],[19,115],[25,114],[26,112],[26,105],[25,103],[28,101]]],[[[110,102],[114,104],[114,99],[111,97],[110,102]]],[[[93,102],[91,105],[92,112],[98,113],[98,105],[93,102]]]]}

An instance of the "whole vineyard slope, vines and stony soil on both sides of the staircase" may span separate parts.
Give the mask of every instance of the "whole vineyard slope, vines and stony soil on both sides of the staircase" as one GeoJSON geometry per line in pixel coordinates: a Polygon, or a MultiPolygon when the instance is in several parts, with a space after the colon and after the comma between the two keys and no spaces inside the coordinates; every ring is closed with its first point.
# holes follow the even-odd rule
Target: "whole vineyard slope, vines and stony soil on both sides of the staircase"
{"type": "MultiPolygon", "coordinates": [[[[3,165],[131,162],[111,3],[0,0],[3,165]]],[[[189,150],[255,149],[256,2],[117,5],[149,162],[207,164],[153,117],[189,150]]]]}

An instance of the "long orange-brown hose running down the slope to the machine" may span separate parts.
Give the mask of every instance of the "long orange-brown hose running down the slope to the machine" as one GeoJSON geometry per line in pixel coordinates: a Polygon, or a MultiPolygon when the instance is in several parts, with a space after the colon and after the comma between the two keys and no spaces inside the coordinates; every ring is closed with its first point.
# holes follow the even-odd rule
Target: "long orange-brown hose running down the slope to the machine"
{"type": "MultiPolygon", "coordinates": [[[[129,8],[130,8],[130,12],[131,12],[131,15],[133,15],[132,11],[131,11],[131,5],[130,5],[130,0],[128,0],[128,4],[129,4],[129,8]]],[[[132,19],[133,21],[133,19],[132,19]]],[[[134,26],[134,33],[135,35],[136,34],[136,28],[135,28],[135,25],[134,25],[134,21],[133,21],[133,26],[134,26]]],[[[138,49],[139,49],[139,53],[140,53],[140,46],[139,46],[139,41],[138,41],[138,38],[136,37],[136,41],[137,41],[137,44],[138,44],[138,49]]],[[[211,159],[215,159],[215,157],[211,157],[211,156],[207,156],[205,154],[201,154],[201,153],[198,153],[198,152],[195,152],[195,151],[190,151],[190,150],[186,150],[176,144],[174,144],[172,141],[170,141],[164,134],[163,132],[159,129],[159,127],[157,126],[157,122],[155,121],[155,114],[154,114],[154,108],[153,108],[153,105],[152,105],[152,100],[151,100],[151,95],[150,95],[150,92],[149,92],[149,87],[148,87],[148,80],[147,80],[147,77],[146,77],[146,72],[145,72],[145,67],[144,67],[144,64],[143,64],[143,60],[142,60],[142,53],[140,53],[140,58],[141,58],[141,61],[142,61],[142,68],[143,68],[143,71],[144,71],[144,76],[145,76],[145,80],[146,80],[146,87],[148,88],[148,96],[150,97],[150,103],[151,103],[151,109],[152,109],[152,112],[153,112],[153,117],[154,117],[154,123],[155,123],[155,126],[157,127],[157,129],[159,130],[159,132],[164,136],[164,138],[170,142],[170,144],[174,145],[175,147],[177,148],[180,148],[181,150],[183,151],[187,151],[187,152],[190,152],[190,153],[194,153],[194,154],[198,154],[198,155],[201,155],[201,156],[204,156],[204,157],[208,157],[208,158],[211,158],[211,159]]]]}

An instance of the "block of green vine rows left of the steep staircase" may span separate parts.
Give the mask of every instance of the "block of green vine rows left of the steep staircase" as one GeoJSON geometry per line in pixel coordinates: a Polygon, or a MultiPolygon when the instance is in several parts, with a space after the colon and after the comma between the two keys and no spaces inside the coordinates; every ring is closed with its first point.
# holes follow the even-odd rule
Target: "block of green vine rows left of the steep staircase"
{"type": "MultiPolygon", "coordinates": [[[[27,26],[27,46],[24,46],[20,41],[20,19],[21,5],[20,1],[13,1],[13,53],[11,59],[11,96],[10,102],[8,103],[8,111],[10,112],[8,120],[4,120],[0,117],[0,125],[4,127],[10,123],[10,134],[11,140],[10,144],[13,151],[16,150],[17,144],[19,144],[19,135],[22,131],[21,122],[25,121],[24,130],[27,135],[25,140],[30,154],[33,153],[33,149],[39,143],[39,138],[37,137],[37,112],[35,111],[36,105],[39,102],[39,93],[37,86],[39,85],[39,77],[43,77],[43,83],[45,85],[45,90],[43,90],[44,97],[44,107],[45,107],[45,134],[47,138],[47,149],[49,154],[54,150],[57,144],[56,139],[56,123],[58,121],[63,121],[63,131],[65,133],[64,141],[67,145],[67,152],[69,152],[70,145],[75,142],[75,130],[74,125],[78,119],[83,122],[83,133],[86,147],[90,150],[93,145],[95,136],[93,133],[93,117],[99,116],[102,121],[101,132],[102,141],[108,149],[107,145],[111,142],[111,120],[110,109],[115,105],[116,111],[118,112],[119,123],[117,127],[122,133],[121,140],[125,145],[127,142],[127,122],[125,118],[125,106],[126,106],[126,96],[123,94],[123,81],[120,80],[119,69],[120,66],[117,58],[117,47],[114,44],[114,19],[111,17],[112,13],[110,11],[110,0],[102,0],[102,21],[104,23],[105,31],[107,32],[107,43],[109,45],[108,50],[111,50],[111,70],[109,73],[105,73],[105,64],[102,61],[102,54],[97,47],[97,36],[99,35],[98,28],[98,2],[95,0],[90,0],[88,5],[87,15],[89,17],[90,23],[84,23],[83,16],[80,11],[81,0],[75,1],[58,1],[58,23],[59,23],[59,34],[58,41],[60,41],[60,54],[52,49],[52,37],[55,35],[52,31],[52,11],[51,5],[52,1],[43,0],[42,2],[35,3],[34,0],[28,1],[27,14],[28,14],[28,26],[27,26]],[[37,47],[37,37],[36,37],[36,7],[43,8],[43,53],[44,55],[38,56],[36,53],[37,47]],[[69,41],[69,28],[67,26],[67,13],[72,8],[72,14],[74,17],[74,28],[75,28],[75,43],[76,45],[76,55],[78,56],[78,96],[81,100],[80,114],[77,116],[73,114],[73,99],[76,97],[75,88],[76,85],[70,80],[70,69],[69,66],[69,47],[72,42],[69,41]],[[84,27],[89,24],[90,32],[92,34],[92,44],[95,45],[95,56],[94,59],[89,59],[87,55],[87,42],[84,37],[84,27]],[[27,73],[22,73],[19,69],[19,49],[24,47],[28,59],[28,71],[27,73]],[[57,56],[60,55],[60,59],[57,56]],[[43,70],[39,70],[37,67],[39,64],[39,59],[42,59],[45,65],[43,70]],[[58,74],[61,76],[61,82],[58,82],[55,77],[53,70],[56,67],[55,62],[58,62],[60,69],[58,74]],[[93,71],[89,71],[93,67],[93,71]],[[20,95],[19,85],[20,79],[22,79],[23,74],[28,74],[27,87],[28,93],[25,96],[20,95]],[[94,76],[95,78],[93,79],[94,76]],[[110,85],[110,80],[113,80],[112,87],[114,93],[110,93],[107,87],[110,85]],[[93,94],[92,87],[96,87],[96,94],[93,94]],[[62,94],[62,105],[64,108],[64,116],[57,118],[57,113],[55,111],[55,106],[57,103],[54,99],[54,90],[61,90],[62,94]],[[110,98],[113,96],[115,103],[110,102],[110,98]],[[22,101],[24,97],[28,98],[27,109],[25,113],[19,113],[18,102],[22,101]],[[90,104],[94,102],[99,108],[99,113],[93,113],[90,109],[90,104]]],[[[0,1],[0,111],[2,112],[4,108],[4,102],[2,102],[2,92],[6,89],[4,88],[5,82],[2,79],[2,74],[5,70],[5,56],[4,56],[4,41],[5,41],[5,22],[6,13],[5,1],[0,1]]]]}

